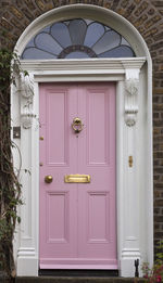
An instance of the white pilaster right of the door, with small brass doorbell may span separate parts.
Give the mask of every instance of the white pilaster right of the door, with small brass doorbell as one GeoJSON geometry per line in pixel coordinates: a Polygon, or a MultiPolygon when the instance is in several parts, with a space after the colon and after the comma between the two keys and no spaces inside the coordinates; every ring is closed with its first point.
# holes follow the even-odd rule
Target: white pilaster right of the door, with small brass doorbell
{"type": "Polygon", "coordinates": [[[139,112],[139,72],[140,66],[135,68],[125,67],[124,90],[124,186],[123,186],[123,224],[122,224],[122,255],[121,275],[135,275],[135,260],[140,261],[139,248],[139,189],[137,170],[137,115],[139,112]]]}

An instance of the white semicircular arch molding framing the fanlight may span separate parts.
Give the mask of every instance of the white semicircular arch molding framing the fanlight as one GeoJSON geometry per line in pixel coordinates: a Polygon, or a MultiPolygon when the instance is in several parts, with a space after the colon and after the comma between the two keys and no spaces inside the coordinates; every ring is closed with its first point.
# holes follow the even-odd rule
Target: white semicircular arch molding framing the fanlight
{"type": "Polygon", "coordinates": [[[123,16],[117,13],[91,4],[73,4],[50,10],[40,15],[21,35],[15,50],[21,54],[27,42],[37,35],[42,28],[60,21],[66,21],[77,17],[87,17],[98,21],[121,34],[131,46],[136,56],[146,56],[151,63],[151,56],[146,41],[139,31],[123,16]]]}

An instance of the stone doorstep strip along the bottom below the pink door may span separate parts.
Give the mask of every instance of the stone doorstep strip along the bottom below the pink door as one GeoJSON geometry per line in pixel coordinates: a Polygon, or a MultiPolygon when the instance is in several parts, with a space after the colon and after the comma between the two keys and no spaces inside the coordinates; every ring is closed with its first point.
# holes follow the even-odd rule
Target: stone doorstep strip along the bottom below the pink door
{"type": "Polygon", "coordinates": [[[15,283],[145,283],[143,279],[136,278],[72,278],[72,276],[38,276],[38,278],[25,278],[18,276],[15,279],[15,283]]]}

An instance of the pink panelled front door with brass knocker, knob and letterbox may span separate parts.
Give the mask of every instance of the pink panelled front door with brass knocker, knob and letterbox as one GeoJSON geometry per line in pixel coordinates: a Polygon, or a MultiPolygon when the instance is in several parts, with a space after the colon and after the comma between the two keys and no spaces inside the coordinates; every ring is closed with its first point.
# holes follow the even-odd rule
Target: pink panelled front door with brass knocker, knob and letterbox
{"type": "Polygon", "coordinates": [[[117,269],[113,82],[40,85],[40,268],[117,269]]]}

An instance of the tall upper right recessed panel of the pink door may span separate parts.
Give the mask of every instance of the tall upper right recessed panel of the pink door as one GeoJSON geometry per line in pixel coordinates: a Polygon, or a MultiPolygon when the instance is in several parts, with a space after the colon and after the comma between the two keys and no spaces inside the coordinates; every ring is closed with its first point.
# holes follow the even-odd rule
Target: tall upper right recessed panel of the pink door
{"type": "Polygon", "coordinates": [[[106,90],[87,89],[87,162],[89,165],[103,165],[109,162],[109,95],[106,90]],[[100,111],[99,111],[100,110],[100,111]],[[100,142],[100,151],[99,151],[100,142]]]}

